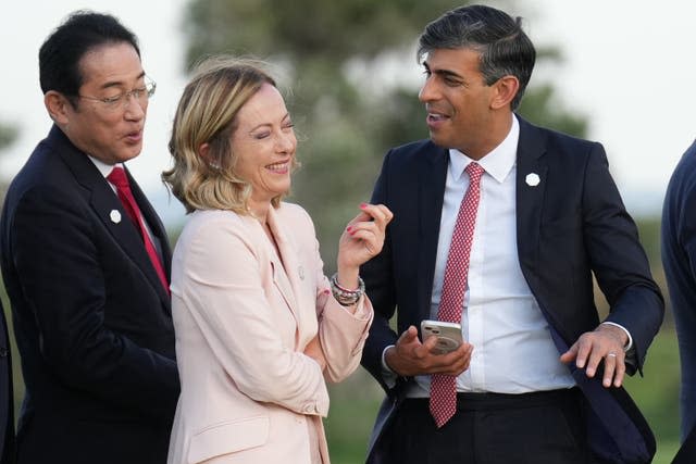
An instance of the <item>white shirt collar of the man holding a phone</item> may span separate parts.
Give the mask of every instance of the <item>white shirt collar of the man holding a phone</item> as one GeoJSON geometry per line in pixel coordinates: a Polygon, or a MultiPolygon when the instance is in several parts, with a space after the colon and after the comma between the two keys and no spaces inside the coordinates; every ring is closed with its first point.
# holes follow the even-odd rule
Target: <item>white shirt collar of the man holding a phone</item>
{"type": "MultiPolygon", "coordinates": [[[[498,183],[502,183],[517,163],[519,140],[520,123],[513,114],[512,125],[506,138],[493,151],[478,160],[477,163],[489,176],[498,183]]],[[[469,163],[475,160],[467,156],[461,151],[453,148],[449,149],[449,168],[456,178],[461,177],[469,163]]]]}

